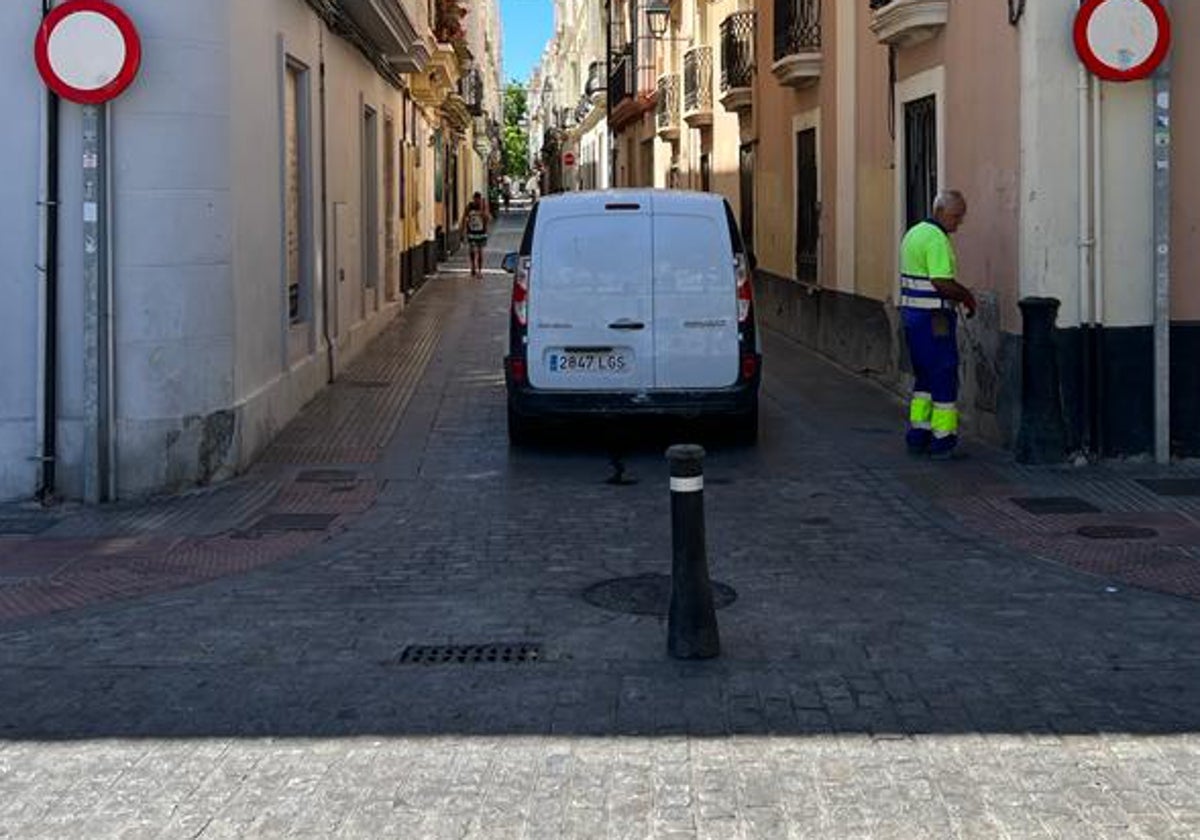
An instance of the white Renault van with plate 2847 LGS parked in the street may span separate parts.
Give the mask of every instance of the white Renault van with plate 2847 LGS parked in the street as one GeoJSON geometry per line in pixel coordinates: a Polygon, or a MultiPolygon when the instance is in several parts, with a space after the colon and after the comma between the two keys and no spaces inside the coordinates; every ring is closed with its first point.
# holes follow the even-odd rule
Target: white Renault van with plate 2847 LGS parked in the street
{"type": "Polygon", "coordinates": [[[509,439],[540,418],[724,415],[758,428],[751,257],[728,204],[666,190],[542,198],[521,250],[504,359],[509,439]]]}

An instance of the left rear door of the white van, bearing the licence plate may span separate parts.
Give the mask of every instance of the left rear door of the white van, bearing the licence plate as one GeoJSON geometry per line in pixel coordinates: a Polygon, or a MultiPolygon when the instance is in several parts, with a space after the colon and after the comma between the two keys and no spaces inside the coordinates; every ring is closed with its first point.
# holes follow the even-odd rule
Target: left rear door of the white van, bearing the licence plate
{"type": "Polygon", "coordinates": [[[612,196],[541,208],[529,280],[534,388],[654,384],[649,208],[612,196]]]}

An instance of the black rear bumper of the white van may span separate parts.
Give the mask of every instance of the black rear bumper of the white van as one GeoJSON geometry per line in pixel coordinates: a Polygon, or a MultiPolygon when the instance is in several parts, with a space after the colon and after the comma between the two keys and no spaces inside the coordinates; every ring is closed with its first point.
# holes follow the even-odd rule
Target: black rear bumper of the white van
{"type": "Polygon", "coordinates": [[[749,414],[758,404],[758,380],[695,391],[547,391],[509,382],[509,407],[524,418],[604,414],[696,418],[749,414]]]}

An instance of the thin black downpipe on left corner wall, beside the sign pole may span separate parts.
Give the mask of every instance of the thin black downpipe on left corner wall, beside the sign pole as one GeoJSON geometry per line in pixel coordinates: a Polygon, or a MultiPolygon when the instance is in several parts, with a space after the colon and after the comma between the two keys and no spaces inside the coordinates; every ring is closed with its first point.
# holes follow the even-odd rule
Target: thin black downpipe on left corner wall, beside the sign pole
{"type": "MultiPolygon", "coordinates": [[[[52,0],[42,0],[42,18],[50,13],[52,0]]],[[[44,116],[41,131],[42,184],[38,212],[41,241],[42,312],[38,320],[41,338],[41,484],[37,499],[53,504],[58,494],[58,354],[59,354],[59,97],[43,88],[44,116]]]]}

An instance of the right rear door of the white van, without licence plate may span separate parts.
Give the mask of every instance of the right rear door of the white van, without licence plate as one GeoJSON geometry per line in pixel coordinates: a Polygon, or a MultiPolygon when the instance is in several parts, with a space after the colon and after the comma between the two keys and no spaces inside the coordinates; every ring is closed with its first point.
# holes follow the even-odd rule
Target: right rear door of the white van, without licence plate
{"type": "Polygon", "coordinates": [[[655,388],[737,382],[737,276],[719,198],[655,197],[654,355],[655,388]]]}

